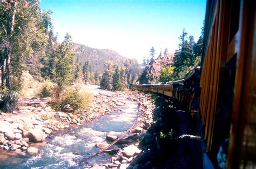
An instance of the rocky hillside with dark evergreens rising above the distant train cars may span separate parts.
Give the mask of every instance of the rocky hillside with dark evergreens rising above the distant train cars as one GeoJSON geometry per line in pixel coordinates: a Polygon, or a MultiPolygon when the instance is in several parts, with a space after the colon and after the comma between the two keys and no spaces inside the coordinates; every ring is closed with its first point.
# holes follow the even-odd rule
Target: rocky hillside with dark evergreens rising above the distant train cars
{"type": "Polygon", "coordinates": [[[179,48],[173,54],[165,49],[157,59],[154,59],[155,50],[150,49],[150,57],[143,60],[143,73],[137,81],[140,84],[157,84],[184,78],[187,72],[199,66],[203,52],[204,27],[197,42],[193,36],[187,37],[185,29],[179,36],[179,48]]]}

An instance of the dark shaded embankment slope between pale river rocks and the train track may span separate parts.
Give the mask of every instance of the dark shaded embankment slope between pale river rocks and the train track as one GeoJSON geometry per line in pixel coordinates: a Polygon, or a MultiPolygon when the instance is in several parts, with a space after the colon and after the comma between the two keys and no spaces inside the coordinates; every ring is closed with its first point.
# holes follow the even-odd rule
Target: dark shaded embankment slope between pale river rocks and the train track
{"type": "MultiPolygon", "coordinates": [[[[153,112],[153,120],[156,123],[147,130],[147,134],[140,141],[140,147],[146,152],[146,158],[152,162],[147,167],[152,168],[165,163],[168,156],[164,154],[176,151],[174,147],[177,140],[174,138],[177,137],[178,122],[176,107],[170,98],[156,93],[147,93],[147,95],[150,95],[156,104],[153,112]]],[[[140,161],[140,164],[143,164],[143,161],[140,161]]]]}

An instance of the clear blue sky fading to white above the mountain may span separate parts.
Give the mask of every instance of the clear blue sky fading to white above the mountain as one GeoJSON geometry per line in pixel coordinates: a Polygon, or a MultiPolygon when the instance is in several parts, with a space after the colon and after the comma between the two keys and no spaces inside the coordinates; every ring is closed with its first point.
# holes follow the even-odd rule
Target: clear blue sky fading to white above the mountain
{"type": "Polygon", "coordinates": [[[140,63],[154,46],[178,49],[183,28],[197,41],[205,17],[205,1],[83,1],[42,0],[52,10],[53,26],[61,41],[66,32],[73,42],[111,49],[140,63]]]}

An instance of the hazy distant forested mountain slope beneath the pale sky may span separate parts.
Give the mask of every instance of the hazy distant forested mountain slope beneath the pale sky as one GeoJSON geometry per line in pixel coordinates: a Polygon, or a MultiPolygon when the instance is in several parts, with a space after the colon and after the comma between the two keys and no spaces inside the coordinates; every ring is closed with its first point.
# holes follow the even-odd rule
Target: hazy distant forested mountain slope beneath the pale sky
{"type": "Polygon", "coordinates": [[[72,48],[76,53],[76,61],[80,65],[84,65],[86,62],[89,63],[90,70],[93,73],[104,72],[104,62],[106,60],[112,60],[116,62],[120,67],[124,66],[124,63],[128,58],[119,55],[116,51],[109,49],[96,49],[90,48],[82,44],[75,43],[72,48]]]}

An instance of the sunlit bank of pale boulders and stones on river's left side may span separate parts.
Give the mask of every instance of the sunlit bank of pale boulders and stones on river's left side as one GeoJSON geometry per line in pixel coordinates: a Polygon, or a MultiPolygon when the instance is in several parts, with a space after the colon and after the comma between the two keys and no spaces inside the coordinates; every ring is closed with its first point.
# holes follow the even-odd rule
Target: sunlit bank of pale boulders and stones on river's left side
{"type": "Polygon", "coordinates": [[[0,147],[5,151],[14,151],[19,156],[35,156],[40,150],[31,146],[32,143],[43,142],[51,132],[82,125],[86,121],[118,111],[118,106],[124,103],[115,98],[123,96],[122,92],[98,93],[91,106],[80,114],[55,112],[47,98],[19,99],[19,111],[16,114],[0,115],[0,147]]]}

